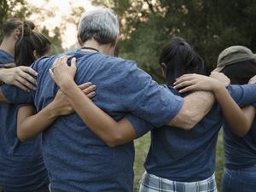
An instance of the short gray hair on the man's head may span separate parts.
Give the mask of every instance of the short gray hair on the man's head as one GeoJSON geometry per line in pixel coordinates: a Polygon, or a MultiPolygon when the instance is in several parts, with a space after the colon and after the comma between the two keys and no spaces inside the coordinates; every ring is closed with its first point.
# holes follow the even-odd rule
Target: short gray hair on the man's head
{"type": "Polygon", "coordinates": [[[112,9],[92,10],[79,22],[79,38],[83,42],[94,38],[99,44],[110,44],[119,36],[119,21],[112,9]]]}

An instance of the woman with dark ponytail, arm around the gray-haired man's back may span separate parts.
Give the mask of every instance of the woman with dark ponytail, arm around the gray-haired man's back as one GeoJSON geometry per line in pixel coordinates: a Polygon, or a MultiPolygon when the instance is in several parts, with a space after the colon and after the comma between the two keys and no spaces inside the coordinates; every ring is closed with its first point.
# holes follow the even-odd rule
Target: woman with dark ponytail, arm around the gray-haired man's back
{"type": "MultiPolygon", "coordinates": [[[[39,57],[50,54],[49,40],[43,34],[34,32],[34,27],[32,22],[24,21],[22,23],[21,33],[15,44],[15,63],[18,66],[30,66],[39,57]]],[[[90,84],[82,84],[81,89],[85,93],[88,92],[88,96],[93,96],[93,92],[90,93],[86,89],[89,86],[90,84]]],[[[57,117],[73,113],[73,109],[61,91],[58,91],[54,100],[37,114],[31,104],[5,105],[9,106],[9,111],[6,112],[6,118],[3,119],[5,124],[1,127],[1,131],[3,131],[1,135],[6,138],[2,142],[6,148],[9,148],[9,152],[5,155],[5,161],[0,160],[0,184],[3,186],[4,192],[48,192],[49,177],[44,166],[42,135],[25,130],[25,134],[29,135],[29,138],[26,139],[26,142],[21,143],[22,139],[18,139],[20,136],[18,130],[20,126],[27,126],[30,122],[34,123],[33,130],[41,128],[46,130],[57,117]],[[4,167],[2,166],[3,162],[6,162],[4,167]],[[3,182],[1,178],[3,178],[3,182]]]]}

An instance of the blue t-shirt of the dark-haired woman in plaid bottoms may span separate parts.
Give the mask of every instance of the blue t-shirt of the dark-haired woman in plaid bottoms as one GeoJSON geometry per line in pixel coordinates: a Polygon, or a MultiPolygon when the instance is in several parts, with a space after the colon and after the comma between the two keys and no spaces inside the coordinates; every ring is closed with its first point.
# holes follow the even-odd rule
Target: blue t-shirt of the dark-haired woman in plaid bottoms
{"type": "MultiPolygon", "coordinates": [[[[170,90],[179,95],[177,90],[170,90]]],[[[230,85],[228,90],[241,106],[256,101],[256,85],[230,85]]],[[[140,129],[152,126],[141,119],[128,119],[140,129]]],[[[155,129],[151,127],[151,145],[145,169],[150,174],[179,182],[211,177],[215,171],[218,131],[223,123],[223,114],[215,103],[206,117],[190,131],[166,125],[155,129]]]]}

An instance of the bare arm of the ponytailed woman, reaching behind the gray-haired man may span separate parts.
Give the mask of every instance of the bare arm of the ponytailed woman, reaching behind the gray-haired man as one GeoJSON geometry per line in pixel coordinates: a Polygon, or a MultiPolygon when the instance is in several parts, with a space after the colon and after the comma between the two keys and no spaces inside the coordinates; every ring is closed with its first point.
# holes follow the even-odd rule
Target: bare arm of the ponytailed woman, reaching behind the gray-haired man
{"type": "MultiPolygon", "coordinates": [[[[95,92],[93,91],[95,87],[90,83],[81,84],[78,88],[83,95],[87,94],[89,97],[95,96],[95,92]]],[[[89,97],[87,98],[89,99],[89,97]]],[[[59,90],[54,101],[50,102],[48,106],[38,113],[35,113],[35,109],[31,105],[26,105],[19,109],[17,136],[21,142],[24,142],[46,130],[57,117],[70,113],[73,113],[73,108],[67,101],[67,96],[59,90]]]]}

